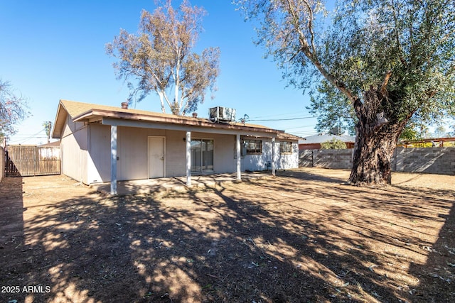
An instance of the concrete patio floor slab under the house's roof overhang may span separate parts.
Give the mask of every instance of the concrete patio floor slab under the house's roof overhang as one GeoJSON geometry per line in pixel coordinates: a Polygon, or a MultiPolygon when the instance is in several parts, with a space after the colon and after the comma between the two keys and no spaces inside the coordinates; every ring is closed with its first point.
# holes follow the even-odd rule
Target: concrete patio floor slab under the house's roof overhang
{"type": "MultiPolygon", "coordinates": [[[[271,172],[242,172],[242,181],[237,179],[237,174],[210,174],[193,175],[191,177],[191,187],[186,183],[186,177],[166,177],[146,180],[130,180],[117,182],[116,196],[129,196],[135,194],[154,194],[157,192],[184,192],[188,189],[214,187],[227,182],[248,182],[250,180],[272,177],[271,172]]],[[[92,184],[93,187],[107,196],[111,194],[110,182],[92,184]]]]}

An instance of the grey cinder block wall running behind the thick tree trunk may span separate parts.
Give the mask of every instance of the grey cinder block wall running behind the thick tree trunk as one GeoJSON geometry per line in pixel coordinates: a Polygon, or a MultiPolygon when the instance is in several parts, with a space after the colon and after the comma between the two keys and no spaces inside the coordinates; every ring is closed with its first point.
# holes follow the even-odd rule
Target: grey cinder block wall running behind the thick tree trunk
{"type": "MultiPolygon", "coordinates": [[[[299,150],[299,167],[350,170],[353,149],[299,150]]],[[[455,175],[455,148],[397,148],[392,158],[397,172],[455,175]]]]}

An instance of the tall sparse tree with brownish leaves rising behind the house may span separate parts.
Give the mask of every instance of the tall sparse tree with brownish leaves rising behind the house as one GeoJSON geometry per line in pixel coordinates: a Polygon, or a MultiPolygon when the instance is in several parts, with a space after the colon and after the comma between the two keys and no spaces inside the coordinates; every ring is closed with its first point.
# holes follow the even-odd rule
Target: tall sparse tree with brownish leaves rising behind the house
{"type": "MultiPolygon", "coordinates": [[[[121,30],[106,53],[117,57],[118,79],[129,80],[129,101],[158,94],[161,110],[172,114],[195,111],[208,89],[215,92],[219,74],[219,48],[193,53],[202,31],[205,11],[183,0],[178,10],[166,0],[153,13],[142,11],[137,34],[121,30]]],[[[213,95],[212,95],[213,98],[213,95]]]]}

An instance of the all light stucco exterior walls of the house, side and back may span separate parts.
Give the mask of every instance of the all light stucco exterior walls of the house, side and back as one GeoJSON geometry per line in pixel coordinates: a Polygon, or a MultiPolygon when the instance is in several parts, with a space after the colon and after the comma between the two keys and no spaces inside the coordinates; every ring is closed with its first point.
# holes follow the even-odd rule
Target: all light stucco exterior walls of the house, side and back
{"type": "MultiPolygon", "coordinates": [[[[110,131],[102,124],[83,124],[67,121],[62,138],[63,174],[92,184],[110,181],[110,131]]],[[[186,132],[162,129],[117,127],[117,180],[141,180],[149,177],[148,138],[165,138],[165,177],[186,175],[186,132]]],[[[191,138],[211,139],[214,143],[213,169],[215,173],[235,172],[235,135],[192,132],[191,138]]],[[[265,170],[272,160],[272,141],[262,139],[261,155],[245,155],[241,170],[265,170]]],[[[298,144],[293,143],[293,153],[281,154],[279,141],[275,144],[277,169],[298,167],[298,144]]]]}

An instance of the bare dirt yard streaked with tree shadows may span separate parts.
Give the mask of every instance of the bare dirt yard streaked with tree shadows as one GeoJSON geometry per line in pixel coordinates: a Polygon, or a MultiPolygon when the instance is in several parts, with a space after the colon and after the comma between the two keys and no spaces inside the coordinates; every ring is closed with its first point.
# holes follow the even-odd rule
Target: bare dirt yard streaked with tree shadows
{"type": "Polygon", "coordinates": [[[453,302],[455,176],[344,170],[102,197],[0,183],[0,302],[453,302]]]}

